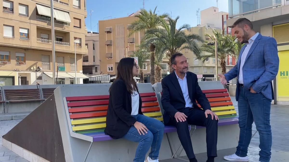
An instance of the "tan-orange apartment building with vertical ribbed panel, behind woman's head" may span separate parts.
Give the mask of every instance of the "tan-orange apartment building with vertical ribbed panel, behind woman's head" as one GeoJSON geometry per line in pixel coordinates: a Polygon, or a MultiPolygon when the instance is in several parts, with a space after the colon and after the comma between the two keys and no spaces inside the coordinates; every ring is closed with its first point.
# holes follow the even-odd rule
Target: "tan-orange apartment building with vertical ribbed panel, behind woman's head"
{"type": "MultiPolygon", "coordinates": [[[[137,12],[136,12],[137,13],[137,12]]],[[[127,17],[99,20],[99,57],[101,74],[116,75],[117,65],[124,57],[129,57],[137,49],[137,45],[144,38],[143,32],[134,33],[128,37],[128,27],[137,20],[131,14],[127,17]]],[[[167,75],[168,60],[162,63],[162,75],[167,75]]],[[[144,80],[150,82],[149,60],[144,68],[144,80]]]]}

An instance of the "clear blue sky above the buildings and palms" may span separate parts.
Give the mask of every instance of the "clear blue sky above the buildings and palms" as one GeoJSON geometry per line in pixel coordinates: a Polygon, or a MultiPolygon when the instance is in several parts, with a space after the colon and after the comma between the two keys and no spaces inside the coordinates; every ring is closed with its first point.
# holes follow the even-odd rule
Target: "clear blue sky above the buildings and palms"
{"type": "MultiPolygon", "coordinates": [[[[86,0],[87,18],[85,24],[90,31],[90,10],[92,31],[97,32],[98,20],[119,18],[132,14],[143,7],[142,0],[86,0]],[[105,18],[108,17],[108,18],[105,18]]],[[[197,25],[196,11],[198,8],[217,6],[216,0],[144,0],[144,8],[153,10],[157,7],[160,14],[167,12],[172,17],[180,16],[177,27],[187,23],[192,27],[197,25]]],[[[219,11],[228,12],[228,0],[218,0],[219,11]]]]}

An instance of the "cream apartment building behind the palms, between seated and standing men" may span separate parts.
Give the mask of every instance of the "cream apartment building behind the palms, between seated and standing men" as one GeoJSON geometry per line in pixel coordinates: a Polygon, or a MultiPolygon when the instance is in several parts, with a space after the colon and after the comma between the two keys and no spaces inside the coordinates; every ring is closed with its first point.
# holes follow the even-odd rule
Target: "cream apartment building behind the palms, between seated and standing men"
{"type": "MultiPolygon", "coordinates": [[[[213,30],[217,30],[218,32],[221,32],[221,29],[213,29],[211,27],[192,27],[191,31],[186,30],[186,33],[194,33],[200,35],[204,40],[208,42],[214,42],[214,40],[211,40],[209,37],[205,36],[206,34],[214,35],[213,30]]],[[[201,47],[202,43],[198,42],[198,45],[201,47]]],[[[197,74],[198,81],[214,81],[216,77],[216,58],[209,58],[203,63],[203,60],[198,60],[197,57],[194,55],[194,53],[190,50],[182,50],[181,51],[188,60],[188,67],[189,71],[197,74]]],[[[209,55],[208,52],[202,52],[202,55],[209,55]]],[[[228,56],[228,59],[226,61],[226,69],[229,71],[231,68],[236,65],[236,61],[231,57],[228,56]]],[[[222,68],[220,66],[220,63],[218,62],[218,73],[221,73],[222,68]]]]}

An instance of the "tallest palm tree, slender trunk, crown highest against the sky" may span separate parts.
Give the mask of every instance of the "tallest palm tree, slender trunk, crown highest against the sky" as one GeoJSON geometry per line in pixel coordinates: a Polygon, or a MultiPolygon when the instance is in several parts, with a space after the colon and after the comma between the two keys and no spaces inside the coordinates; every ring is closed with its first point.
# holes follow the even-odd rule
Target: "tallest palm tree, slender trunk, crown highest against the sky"
{"type": "MultiPolygon", "coordinates": [[[[133,33],[139,32],[139,31],[146,31],[149,29],[156,29],[161,24],[161,20],[168,17],[169,15],[167,13],[158,15],[156,14],[155,10],[145,10],[144,8],[140,9],[139,14],[136,14],[135,17],[138,18],[138,20],[131,23],[131,26],[129,29],[131,30],[131,33],[129,33],[129,36],[131,36],[133,33]]],[[[146,35],[147,36],[147,35],[146,35]]],[[[151,84],[155,84],[155,45],[150,44],[150,52],[151,52],[151,84]]]]}

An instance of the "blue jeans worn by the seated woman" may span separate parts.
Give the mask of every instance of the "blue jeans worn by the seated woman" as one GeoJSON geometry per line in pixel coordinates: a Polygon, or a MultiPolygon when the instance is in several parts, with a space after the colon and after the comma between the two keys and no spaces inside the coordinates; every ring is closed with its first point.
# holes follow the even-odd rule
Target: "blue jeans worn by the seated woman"
{"type": "Polygon", "coordinates": [[[143,162],[150,147],[151,152],[149,153],[149,157],[153,160],[158,159],[164,135],[164,124],[160,120],[148,116],[140,114],[133,116],[138,122],[144,124],[149,129],[147,133],[140,135],[138,130],[134,126],[131,126],[127,134],[123,136],[123,138],[129,141],[138,142],[134,162],[143,162]]]}

